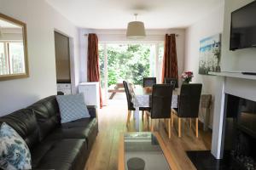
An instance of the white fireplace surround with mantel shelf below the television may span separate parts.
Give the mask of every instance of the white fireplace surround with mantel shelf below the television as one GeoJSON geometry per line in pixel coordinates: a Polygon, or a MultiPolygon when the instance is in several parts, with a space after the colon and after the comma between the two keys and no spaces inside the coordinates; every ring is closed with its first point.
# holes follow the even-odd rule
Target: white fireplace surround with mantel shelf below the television
{"type": "MultiPolygon", "coordinates": [[[[230,122],[231,120],[234,121],[234,119],[229,118],[230,110],[238,111],[240,101],[238,98],[256,101],[256,76],[242,75],[239,72],[211,72],[210,74],[216,76],[211,153],[216,159],[222,159],[229,144],[229,132],[232,132],[229,131],[229,128],[232,129],[232,123],[230,122]],[[234,106],[232,109],[228,107],[228,100],[229,105],[234,106]]],[[[247,116],[247,114],[241,116],[247,116]]],[[[242,130],[245,129],[242,128],[242,130]]],[[[235,140],[230,141],[230,144],[235,142],[235,140]]]]}

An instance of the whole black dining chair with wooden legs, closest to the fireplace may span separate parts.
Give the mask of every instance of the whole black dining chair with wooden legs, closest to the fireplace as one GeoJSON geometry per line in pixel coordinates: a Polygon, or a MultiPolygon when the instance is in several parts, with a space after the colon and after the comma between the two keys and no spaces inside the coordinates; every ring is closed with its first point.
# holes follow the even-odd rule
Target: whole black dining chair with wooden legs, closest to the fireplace
{"type": "Polygon", "coordinates": [[[190,118],[190,127],[192,118],[195,118],[195,136],[198,138],[198,112],[201,99],[202,84],[183,84],[181,87],[177,109],[172,109],[173,115],[178,117],[178,137],[181,137],[181,119],[190,118]]]}

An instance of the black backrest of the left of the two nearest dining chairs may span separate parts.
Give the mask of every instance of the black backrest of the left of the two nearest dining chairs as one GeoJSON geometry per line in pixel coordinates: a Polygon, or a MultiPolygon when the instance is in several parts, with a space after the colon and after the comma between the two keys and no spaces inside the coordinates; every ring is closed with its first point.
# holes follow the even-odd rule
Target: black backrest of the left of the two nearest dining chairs
{"type": "Polygon", "coordinates": [[[170,118],[172,109],[171,84],[155,84],[152,92],[151,118],[170,118]]]}

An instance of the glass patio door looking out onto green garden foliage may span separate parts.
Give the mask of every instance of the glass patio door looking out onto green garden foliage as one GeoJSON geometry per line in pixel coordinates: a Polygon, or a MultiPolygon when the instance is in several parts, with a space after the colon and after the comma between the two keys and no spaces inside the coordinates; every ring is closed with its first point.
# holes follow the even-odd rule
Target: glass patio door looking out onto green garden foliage
{"type": "MultiPolygon", "coordinates": [[[[123,80],[135,85],[142,85],[143,77],[157,77],[157,82],[160,82],[163,53],[163,42],[100,42],[103,105],[108,105],[108,99],[111,97],[113,89],[118,87],[123,80]]],[[[114,96],[112,97],[114,99],[114,96]]]]}

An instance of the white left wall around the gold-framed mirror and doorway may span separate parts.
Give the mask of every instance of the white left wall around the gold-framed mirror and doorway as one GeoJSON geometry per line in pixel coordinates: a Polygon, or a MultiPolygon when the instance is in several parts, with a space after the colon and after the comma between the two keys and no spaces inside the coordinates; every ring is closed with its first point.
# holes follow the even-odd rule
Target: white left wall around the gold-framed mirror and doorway
{"type": "Polygon", "coordinates": [[[30,77],[0,82],[0,116],[56,94],[54,31],[73,37],[75,82],[79,82],[78,30],[44,0],[0,0],[0,11],[26,23],[30,77]]]}

